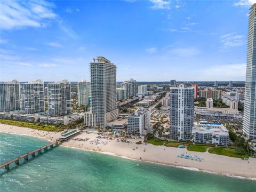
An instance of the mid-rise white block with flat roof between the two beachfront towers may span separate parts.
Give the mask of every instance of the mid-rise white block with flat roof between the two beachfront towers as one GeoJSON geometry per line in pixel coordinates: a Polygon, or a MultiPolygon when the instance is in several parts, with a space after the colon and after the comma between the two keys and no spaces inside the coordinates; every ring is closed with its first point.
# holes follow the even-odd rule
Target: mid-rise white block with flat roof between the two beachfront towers
{"type": "Polygon", "coordinates": [[[143,130],[150,125],[150,110],[139,108],[129,115],[127,119],[127,132],[142,134],[143,130]]]}

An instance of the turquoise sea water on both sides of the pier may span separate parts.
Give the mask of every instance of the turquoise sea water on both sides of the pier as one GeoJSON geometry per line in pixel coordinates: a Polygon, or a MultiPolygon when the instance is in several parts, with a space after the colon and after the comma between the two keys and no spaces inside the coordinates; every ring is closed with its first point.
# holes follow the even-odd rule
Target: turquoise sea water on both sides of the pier
{"type": "MultiPolygon", "coordinates": [[[[0,133],[0,163],[48,141],[0,133]]],[[[256,182],[57,147],[9,171],[1,191],[255,191],[256,182]]]]}

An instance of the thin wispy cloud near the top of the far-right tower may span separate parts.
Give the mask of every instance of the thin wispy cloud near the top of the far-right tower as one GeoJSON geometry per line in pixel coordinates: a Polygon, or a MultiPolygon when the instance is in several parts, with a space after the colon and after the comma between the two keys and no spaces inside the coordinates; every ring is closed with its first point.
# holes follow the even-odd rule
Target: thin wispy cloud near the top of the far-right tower
{"type": "Polygon", "coordinates": [[[222,35],[220,39],[222,48],[237,47],[246,44],[244,35],[237,35],[236,33],[222,35]]]}

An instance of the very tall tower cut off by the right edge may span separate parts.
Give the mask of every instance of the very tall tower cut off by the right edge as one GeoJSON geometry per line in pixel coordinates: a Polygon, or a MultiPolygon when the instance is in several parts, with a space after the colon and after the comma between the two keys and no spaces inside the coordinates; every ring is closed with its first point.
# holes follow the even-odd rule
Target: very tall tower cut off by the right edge
{"type": "Polygon", "coordinates": [[[247,41],[243,133],[256,141],[256,4],[251,7],[247,41]]]}

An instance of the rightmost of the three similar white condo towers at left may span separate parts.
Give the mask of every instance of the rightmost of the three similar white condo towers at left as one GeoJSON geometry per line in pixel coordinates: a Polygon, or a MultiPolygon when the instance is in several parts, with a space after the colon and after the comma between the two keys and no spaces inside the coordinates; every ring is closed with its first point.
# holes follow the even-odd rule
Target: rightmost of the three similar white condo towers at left
{"type": "Polygon", "coordinates": [[[67,80],[48,83],[48,115],[62,116],[71,113],[70,83],[67,80]]]}

